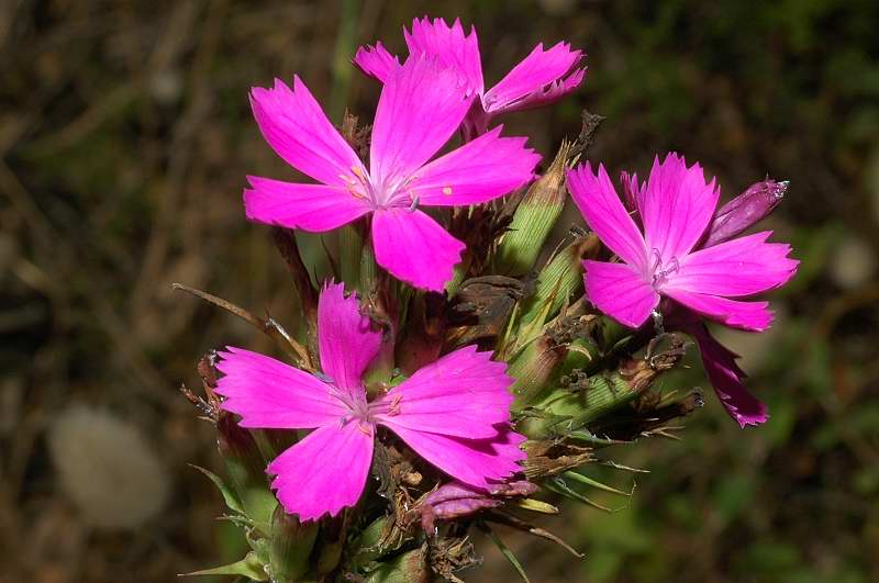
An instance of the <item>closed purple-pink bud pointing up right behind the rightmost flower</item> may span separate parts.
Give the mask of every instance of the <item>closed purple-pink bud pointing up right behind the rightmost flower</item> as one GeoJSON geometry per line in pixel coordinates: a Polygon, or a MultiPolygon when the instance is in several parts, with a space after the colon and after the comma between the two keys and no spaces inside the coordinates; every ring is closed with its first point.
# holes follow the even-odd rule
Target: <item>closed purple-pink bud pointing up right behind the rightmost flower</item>
{"type": "Polygon", "coordinates": [[[702,246],[711,247],[728,240],[768,216],[781,202],[788,184],[787,180],[777,182],[767,178],[748,187],[714,214],[702,246]]]}

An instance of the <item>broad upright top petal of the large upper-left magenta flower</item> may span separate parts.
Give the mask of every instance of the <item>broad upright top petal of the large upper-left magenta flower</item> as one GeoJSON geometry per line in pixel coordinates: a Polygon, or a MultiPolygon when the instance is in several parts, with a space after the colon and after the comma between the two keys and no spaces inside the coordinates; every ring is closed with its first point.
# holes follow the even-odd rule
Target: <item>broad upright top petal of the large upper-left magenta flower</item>
{"type": "Polygon", "coordinates": [[[423,55],[409,57],[381,90],[372,126],[369,172],[386,192],[421,168],[460,125],[472,101],[458,74],[423,55]]]}

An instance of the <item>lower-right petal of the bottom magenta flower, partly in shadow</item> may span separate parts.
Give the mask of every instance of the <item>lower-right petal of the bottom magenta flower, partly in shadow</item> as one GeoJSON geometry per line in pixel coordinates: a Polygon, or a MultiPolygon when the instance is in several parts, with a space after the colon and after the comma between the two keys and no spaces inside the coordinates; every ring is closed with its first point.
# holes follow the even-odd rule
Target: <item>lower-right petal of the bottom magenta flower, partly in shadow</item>
{"type": "Polygon", "coordinates": [[[419,456],[464,483],[488,490],[489,481],[499,481],[521,471],[519,461],[525,452],[519,446],[525,437],[503,429],[490,439],[464,439],[391,427],[419,456]]]}

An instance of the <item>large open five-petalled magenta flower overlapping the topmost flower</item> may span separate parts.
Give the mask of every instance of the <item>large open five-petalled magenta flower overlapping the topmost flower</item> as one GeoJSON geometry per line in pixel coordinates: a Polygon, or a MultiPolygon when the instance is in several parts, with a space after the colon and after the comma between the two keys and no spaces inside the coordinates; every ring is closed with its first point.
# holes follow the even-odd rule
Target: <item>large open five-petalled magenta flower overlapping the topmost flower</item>
{"type": "Polygon", "coordinates": [[[398,279],[442,291],[464,244],[425,206],[488,202],[532,179],[539,156],[524,137],[500,137],[500,127],[430,161],[448,142],[474,96],[460,76],[434,59],[410,58],[381,91],[369,169],[293,78],[254,88],[251,103],[266,141],[296,169],[320,184],[248,177],[247,217],[323,233],[371,214],[376,260],[398,279]]]}

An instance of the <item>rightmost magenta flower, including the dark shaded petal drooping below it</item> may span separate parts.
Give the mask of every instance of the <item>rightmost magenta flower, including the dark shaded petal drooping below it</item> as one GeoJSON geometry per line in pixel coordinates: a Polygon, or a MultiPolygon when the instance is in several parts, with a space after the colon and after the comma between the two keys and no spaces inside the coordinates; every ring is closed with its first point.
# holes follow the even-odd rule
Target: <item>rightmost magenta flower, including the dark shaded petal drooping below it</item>
{"type": "Polygon", "coordinates": [[[708,332],[697,314],[746,330],[766,329],[772,321],[768,302],[743,301],[782,285],[799,261],[790,246],[766,243],[771,232],[732,238],[699,248],[717,205],[720,190],[706,184],[702,168],[687,168],[669,154],[654,161],[646,183],[623,175],[624,193],[644,226],[625,211],[602,166],[596,176],[588,165],[568,171],[568,187],[589,226],[623,261],[583,262],[586,291],[605,314],[639,327],[657,309],[660,295],[675,303],[669,325],[691,334],[699,344],[705,371],[727,412],[741,426],[766,421],[766,407],[742,384],[745,373],[735,354],[708,332]],[[735,298],[735,299],[733,299],[735,298]],[[683,309],[681,309],[683,306],[683,309]]]}

